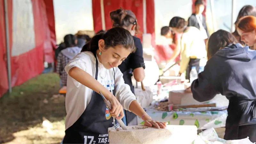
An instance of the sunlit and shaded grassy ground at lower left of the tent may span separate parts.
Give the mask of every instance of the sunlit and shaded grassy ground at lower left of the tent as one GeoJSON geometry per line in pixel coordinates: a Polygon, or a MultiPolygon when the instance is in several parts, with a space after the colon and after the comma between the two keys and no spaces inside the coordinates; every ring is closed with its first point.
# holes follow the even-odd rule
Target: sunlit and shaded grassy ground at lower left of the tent
{"type": "Polygon", "coordinates": [[[65,97],[58,94],[59,76],[39,75],[0,98],[0,144],[59,144],[65,134],[65,97]],[[52,123],[51,134],[42,126],[52,123]]]}

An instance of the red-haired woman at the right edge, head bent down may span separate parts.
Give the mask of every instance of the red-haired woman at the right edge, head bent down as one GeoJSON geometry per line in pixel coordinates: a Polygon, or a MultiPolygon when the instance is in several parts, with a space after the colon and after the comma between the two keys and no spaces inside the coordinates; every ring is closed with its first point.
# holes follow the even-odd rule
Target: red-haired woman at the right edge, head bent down
{"type": "Polygon", "coordinates": [[[237,23],[237,32],[241,36],[241,41],[256,50],[256,17],[245,16],[237,23]]]}

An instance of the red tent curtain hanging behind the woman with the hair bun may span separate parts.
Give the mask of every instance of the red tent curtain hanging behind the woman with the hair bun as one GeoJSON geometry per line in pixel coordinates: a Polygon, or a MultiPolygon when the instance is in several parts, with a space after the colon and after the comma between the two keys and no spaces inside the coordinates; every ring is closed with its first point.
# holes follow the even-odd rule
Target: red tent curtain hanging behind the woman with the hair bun
{"type": "MultiPolygon", "coordinates": [[[[120,7],[131,10],[137,17],[140,33],[138,37],[142,41],[143,34],[143,0],[104,0],[104,18],[106,30],[112,28],[112,22],[109,16],[111,11],[120,7]]],[[[92,14],[94,31],[98,32],[102,29],[100,0],[92,0],[92,14]]],[[[146,0],[146,27],[147,33],[152,34],[152,44],[155,44],[155,11],[154,0],[146,0]]]]}

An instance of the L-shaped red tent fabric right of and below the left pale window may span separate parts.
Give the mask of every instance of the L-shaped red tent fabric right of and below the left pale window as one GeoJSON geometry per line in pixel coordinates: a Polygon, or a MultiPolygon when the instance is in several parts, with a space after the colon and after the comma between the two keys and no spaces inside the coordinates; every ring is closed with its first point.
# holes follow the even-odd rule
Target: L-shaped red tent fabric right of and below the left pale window
{"type": "MultiPolygon", "coordinates": [[[[44,40],[46,16],[44,2],[32,0],[36,47],[19,56],[12,57],[12,86],[20,85],[44,70],[44,40]]],[[[47,20],[46,20],[47,21],[47,20]]]]}

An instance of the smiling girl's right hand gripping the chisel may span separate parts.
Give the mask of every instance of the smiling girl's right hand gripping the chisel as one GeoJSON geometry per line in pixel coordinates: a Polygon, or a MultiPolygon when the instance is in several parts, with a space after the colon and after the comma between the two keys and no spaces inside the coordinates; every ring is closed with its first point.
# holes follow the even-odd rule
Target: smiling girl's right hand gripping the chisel
{"type": "Polygon", "coordinates": [[[110,115],[116,119],[122,119],[124,117],[124,110],[120,102],[116,99],[114,95],[108,99],[112,105],[112,109],[109,111],[110,115]],[[120,115],[120,116],[119,116],[120,115]]]}

